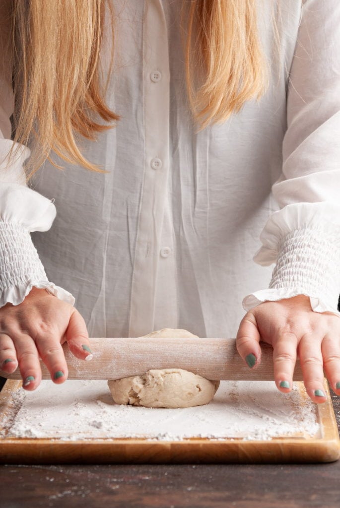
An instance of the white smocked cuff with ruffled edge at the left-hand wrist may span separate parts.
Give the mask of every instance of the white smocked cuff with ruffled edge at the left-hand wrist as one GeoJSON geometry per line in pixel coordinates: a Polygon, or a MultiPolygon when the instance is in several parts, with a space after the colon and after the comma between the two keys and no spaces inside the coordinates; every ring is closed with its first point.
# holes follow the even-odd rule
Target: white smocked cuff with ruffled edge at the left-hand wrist
{"type": "Polygon", "coordinates": [[[19,305],[33,287],[47,289],[71,305],[75,302],[71,293],[48,280],[24,226],[0,221],[0,307],[6,303],[19,305]]]}

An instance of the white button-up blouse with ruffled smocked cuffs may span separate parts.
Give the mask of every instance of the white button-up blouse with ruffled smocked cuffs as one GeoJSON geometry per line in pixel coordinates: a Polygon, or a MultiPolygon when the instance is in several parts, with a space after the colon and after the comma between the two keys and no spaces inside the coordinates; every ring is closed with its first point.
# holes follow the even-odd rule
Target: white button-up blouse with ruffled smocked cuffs
{"type": "MultiPolygon", "coordinates": [[[[65,171],[46,162],[26,187],[29,147],[0,172],[0,305],[19,304],[33,286],[48,288],[75,298],[97,337],[163,327],[234,337],[242,299],[250,309],[297,294],[309,296],[315,311],[340,315],[338,0],[259,2],[270,87],[198,134],[187,105],[179,3],[112,1],[107,101],[121,120],[82,145],[107,173],[52,154],[65,171]]],[[[12,143],[9,83],[4,75],[4,157],[12,143]]]]}

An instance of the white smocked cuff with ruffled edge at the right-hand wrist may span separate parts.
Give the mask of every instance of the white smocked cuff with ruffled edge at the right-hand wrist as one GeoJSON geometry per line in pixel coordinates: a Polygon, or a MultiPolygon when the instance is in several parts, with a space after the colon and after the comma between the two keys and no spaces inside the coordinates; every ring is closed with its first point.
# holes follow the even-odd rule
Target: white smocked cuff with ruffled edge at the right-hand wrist
{"type": "Polygon", "coordinates": [[[297,295],[310,297],[316,312],[337,311],[340,292],[340,238],[338,231],[317,228],[294,230],[278,244],[276,266],[269,289],[244,298],[250,310],[263,301],[277,301],[297,295]]]}

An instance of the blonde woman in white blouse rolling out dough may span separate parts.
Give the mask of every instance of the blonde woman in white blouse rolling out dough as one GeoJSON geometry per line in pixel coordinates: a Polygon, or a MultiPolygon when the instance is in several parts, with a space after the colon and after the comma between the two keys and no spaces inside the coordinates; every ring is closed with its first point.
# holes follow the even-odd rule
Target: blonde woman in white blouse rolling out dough
{"type": "Polygon", "coordinates": [[[338,3],[45,4],[2,18],[2,153],[13,111],[19,142],[1,185],[3,370],[34,390],[38,354],[62,383],[60,342],[90,359],[88,333],[238,329],[251,368],[260,337],[273,345],[281,392],[299,354],[311,399],[323,366],[339,395],[338,3]],[[50,228],[51,199],[40,261],[29,232],[50,228]]]}

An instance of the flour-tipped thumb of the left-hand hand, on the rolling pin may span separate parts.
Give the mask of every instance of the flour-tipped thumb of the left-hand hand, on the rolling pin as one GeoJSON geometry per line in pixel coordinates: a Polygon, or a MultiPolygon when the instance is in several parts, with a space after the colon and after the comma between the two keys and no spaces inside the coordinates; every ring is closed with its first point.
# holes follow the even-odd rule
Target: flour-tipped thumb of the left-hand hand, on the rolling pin
{"type": "Polygon", "coordinates": [[[74,309],[69,326],[65,332],[67,343],[75,357],[80,360],[92,360],[93,355],[88,340],[88,332],[83,316],[74,309]]]}

